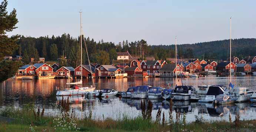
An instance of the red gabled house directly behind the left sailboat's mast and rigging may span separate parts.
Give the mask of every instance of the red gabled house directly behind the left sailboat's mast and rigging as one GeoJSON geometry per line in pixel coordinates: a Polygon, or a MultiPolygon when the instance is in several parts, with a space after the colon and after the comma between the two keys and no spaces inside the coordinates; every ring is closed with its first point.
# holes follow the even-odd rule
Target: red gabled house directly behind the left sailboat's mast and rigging
{"type": "Polygon", "coordinates": [[[89,65],[83,65],[81,68],[81,65],[80,66],[77,66],[75,69],[74,69],[74,76],[76,77],[80,77],[81,76],[81,70],[83,71],[83,74],[82,76],[83,77],[95,77],[95,68],[93,66],[89,66],[89,65]],[[82,70],[83,68],[83,70],[82,70]],[[92,69],[92,72],[91,72],[91,69],[92,69]]]}

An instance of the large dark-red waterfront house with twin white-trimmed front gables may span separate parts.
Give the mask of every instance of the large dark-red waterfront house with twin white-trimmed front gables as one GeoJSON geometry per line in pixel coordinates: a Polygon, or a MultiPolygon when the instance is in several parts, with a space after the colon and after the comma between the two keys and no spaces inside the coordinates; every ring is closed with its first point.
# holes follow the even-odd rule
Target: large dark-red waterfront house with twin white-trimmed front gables
{"type": "Polygon", "coordinates": [[[157,75],[162,64],[159,60],[143,60],[140,65],[143,72],[147,72],[149,75],[157,75]]]}

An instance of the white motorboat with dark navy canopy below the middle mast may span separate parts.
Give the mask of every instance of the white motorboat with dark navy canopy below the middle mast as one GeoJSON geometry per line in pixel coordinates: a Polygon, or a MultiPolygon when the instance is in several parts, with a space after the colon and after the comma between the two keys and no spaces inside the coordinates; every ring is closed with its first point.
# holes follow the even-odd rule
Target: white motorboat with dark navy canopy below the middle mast
{"type": "Polygon", "coordinates": [[[196,91],[192,86],[176,86],[172,92],[173,100],[189,100],[190,95],[196,91]]]}

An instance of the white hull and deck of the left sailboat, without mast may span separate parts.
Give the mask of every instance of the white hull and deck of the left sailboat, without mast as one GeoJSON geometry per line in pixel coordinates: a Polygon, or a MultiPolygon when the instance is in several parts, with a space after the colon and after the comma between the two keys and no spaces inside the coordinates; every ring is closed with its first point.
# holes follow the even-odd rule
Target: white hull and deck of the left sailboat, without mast
{"type": "Polygon", "coordinates": [[[57,91],[57,96],[72,96],[72,95],[84,95],[88,91],[94,91],[96,86],[86,86],[81,87],[79,85],[71,86],[70,88],[65,88],[64,90],[57,91]]]}

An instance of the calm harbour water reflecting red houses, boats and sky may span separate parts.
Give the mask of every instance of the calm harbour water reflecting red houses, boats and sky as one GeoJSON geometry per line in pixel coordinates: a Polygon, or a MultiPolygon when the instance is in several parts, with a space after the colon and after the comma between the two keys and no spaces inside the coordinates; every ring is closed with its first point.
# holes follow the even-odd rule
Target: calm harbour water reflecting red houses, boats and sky
{"type": "MultiPolygon", "coordinates": [[[[64,87],[67,82],[73,80],[66,79],[50,79],[50,80],[8,80],[0,84],[0,109],[6,106],[22,107],[25,104],[34,104],[46,109],[49,115],[57,115],[60,113],[61,98],[56,97],[56,87],[64,87]]],[[[118,91],[126,91],[131,86],[150,85],[166,87],[167,83],[174,85],[176,82],[173,78],[125,78],[125,79],[94,79],[98,89],[113,88],[118,91]]],[[[213,85],[222,84],[229,85],[228,77],[216,77],[210,75],[200,78],[186,78],[177,81],[183,85],[213,85]]],[[[84,79],[86,85],[92,84],[91,79],[84,79]]],[[[235,76],[232,77],[232,83],[235,86],[249,87],[250,90],[256,91],[255,76],[235,76]]],[[[140,115],[140,102],[142,100],[122,99],[112,97],[108,100],[100,100],[98,98],[82,98],[81,96],[71,97],[70,109],[74,108],[77,117],[83,117],[84,113],[92,110],[94,118],[112,117],[122,118],[123,114],[129,117],[137,117],[140,115]]],[[[148,100],[145,100],[146,102],[148,100]]],[[[255,104],[256,106],[256,104],[255,104]]],[[[213,107],[212,104],[191,103],[189,101],[175,101],[173,106],[173,117],[176,112],[186,112],[187,121],[194,121],[195,115],[203,116],[207,120],[228,120],[229,113],[233,120],[237,113],[241,119],[256,119],[256,107],[250,103],[230,104],[219,107],[213,107]]],[[[170,104],[168,101],[154,100],[152,117],[156,117],[157,110],[161,108],[166,118],[169,116],[168,111],[170,104]]]]}

